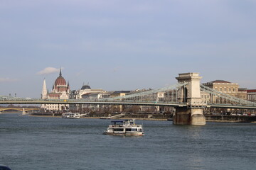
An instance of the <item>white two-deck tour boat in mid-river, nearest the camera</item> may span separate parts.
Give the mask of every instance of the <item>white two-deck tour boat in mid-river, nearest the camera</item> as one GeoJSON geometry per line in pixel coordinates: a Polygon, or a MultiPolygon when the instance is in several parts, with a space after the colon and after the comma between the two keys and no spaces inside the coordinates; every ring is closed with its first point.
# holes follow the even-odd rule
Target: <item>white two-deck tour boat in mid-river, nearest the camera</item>
{"type": "Polygon", "coordinates": [[[105,135],[127,135],[127,136],[143,136],[144,131],[142,125],[136,125],[133,120],[114,120],[111,121],[105,135]]]}

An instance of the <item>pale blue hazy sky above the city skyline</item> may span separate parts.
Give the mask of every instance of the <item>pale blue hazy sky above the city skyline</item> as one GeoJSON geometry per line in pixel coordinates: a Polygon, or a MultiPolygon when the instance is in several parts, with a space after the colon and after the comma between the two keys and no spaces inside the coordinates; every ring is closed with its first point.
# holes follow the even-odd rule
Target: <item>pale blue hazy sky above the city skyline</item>
{"type": "Polygon", "coordinates": [[[158,89],[180,73],[256,89],[255,0],[0,0],[0,95],[158,89]]]}

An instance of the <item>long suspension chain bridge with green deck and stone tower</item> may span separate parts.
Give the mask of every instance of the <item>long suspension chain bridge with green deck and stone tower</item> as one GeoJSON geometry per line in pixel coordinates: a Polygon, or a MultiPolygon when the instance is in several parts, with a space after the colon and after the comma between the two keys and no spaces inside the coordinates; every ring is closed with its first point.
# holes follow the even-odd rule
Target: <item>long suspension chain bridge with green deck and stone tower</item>
{"type": "Polygon", "coordinates": [[[174,124],[205,125],[203,109],[242,108],[256,109],[256,103],[221,93],[201,84],[198,73],[178,74],[177,84],[161,89],[133,92],[114,98],[85,99],[41,99],[0,96],[0,104],[95,104],[95,105],[137,105],[170,106],[176,108],[174,124]],[[201,93],[208,94],[203,100],[201,93]]]}

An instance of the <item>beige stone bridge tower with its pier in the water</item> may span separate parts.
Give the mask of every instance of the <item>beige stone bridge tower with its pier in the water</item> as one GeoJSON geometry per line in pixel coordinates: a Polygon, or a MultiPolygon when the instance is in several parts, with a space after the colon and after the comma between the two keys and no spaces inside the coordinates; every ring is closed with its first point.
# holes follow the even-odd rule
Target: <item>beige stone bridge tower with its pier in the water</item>
{"type": "Polygon", "coordinates": [[[187,103],[186,107],[177,107],[174,115],[176,125],[206,125],[203,115],[205,104],[200,93],[200,80],[198,73],[183,73],[176,77],[178,83],[188,84],[178,91],[178,101],[187,103]]]}

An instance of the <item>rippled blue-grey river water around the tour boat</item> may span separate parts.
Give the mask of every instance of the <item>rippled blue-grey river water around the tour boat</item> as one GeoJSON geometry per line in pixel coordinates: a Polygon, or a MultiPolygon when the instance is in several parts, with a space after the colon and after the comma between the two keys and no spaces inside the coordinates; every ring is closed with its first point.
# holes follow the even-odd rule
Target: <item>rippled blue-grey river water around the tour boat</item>
{"type": "Polygon", "coordinates": [[[256,169],[255,123],[136,123],[144,137],[102,135],[110,120],[0,114],[0,164],[12,170],[256,169]]]}

